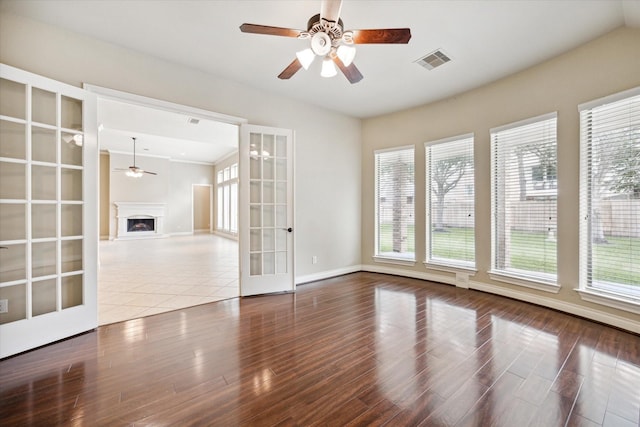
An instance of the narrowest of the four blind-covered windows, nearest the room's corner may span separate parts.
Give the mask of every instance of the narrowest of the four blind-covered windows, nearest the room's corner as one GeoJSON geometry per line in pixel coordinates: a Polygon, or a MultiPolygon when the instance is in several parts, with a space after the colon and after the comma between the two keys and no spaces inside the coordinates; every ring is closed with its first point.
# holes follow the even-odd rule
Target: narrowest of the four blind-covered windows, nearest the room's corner
{"type": "Polygon", "coordinates": [[[413,151],[375,153],[376,257],[415,261],[413,151]]]}

